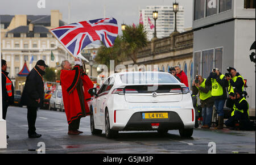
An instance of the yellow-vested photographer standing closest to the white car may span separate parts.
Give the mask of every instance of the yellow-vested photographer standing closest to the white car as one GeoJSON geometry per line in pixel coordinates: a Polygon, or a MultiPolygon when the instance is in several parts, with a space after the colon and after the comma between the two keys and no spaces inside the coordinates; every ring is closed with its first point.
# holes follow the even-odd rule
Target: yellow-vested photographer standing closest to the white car
{"type": "Polygon", "coordinates": [[[201,75],[196,75],[196,79],[192,83],[192,95],[199,93],[203,122],[201,128],[210,128],[212,122],[212,109],[214,100],[212,98],[212,91],[210,86],[205,85],[206,79],[202,78],[201,75]]]}

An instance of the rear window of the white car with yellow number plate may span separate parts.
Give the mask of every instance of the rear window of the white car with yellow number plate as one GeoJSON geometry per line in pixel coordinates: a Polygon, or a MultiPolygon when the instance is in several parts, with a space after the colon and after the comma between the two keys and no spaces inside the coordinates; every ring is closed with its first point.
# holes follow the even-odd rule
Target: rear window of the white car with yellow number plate
{"type": "Polygon", "coordinates": [[[123,73],[120,78],[126,84],[178,83],[171,74],[159,72],[123,73]]]}

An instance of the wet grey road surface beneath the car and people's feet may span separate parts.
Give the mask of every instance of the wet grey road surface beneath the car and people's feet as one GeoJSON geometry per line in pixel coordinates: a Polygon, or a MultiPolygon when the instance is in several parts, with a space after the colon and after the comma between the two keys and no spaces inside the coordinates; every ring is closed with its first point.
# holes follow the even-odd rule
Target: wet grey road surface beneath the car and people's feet
{"type": "Polygon", "coordinates": [[[68,135],[64,112],[39,109],[36,132],[40,138],[28,138],[27,109],[9,107],[7,111],[7,149],[0,154],[37,154],[45,147],[45,153],[94,153],[94,154],[207,154],[252,153],[255,154],[255,131],[194,129],[191,138],[181,138],[178,130],[170,130],[160,136],[157,132],[119,132],[116,139],[107,139],[90,133],[90,119],[81,119],[79,136],[68,135]]]}

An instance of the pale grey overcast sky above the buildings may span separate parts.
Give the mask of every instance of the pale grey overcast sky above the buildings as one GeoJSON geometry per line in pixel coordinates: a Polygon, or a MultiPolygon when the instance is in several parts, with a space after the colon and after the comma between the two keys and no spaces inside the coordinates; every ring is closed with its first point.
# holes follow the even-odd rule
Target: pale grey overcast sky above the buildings
{"type": "MultiPolygon", "coordinates": [[[[139,8],[150,5],[172,5],[174,0],[0,0],[0,15],[28,14],[49,15],[51,10],[60,10],[63,21],[68,23],[68,2],[71,3],[71,23],[104,17],[117,19],[119,27],[139,23],[139,8]],[[38,1],[45,1],[46,8],[39,9],[38,1]]],[[[185,28],[192,27],[192,0],[177,0],[184,7],[185,28]]],[[[120,29],[119,29],[120,30],[120,29]]]]}

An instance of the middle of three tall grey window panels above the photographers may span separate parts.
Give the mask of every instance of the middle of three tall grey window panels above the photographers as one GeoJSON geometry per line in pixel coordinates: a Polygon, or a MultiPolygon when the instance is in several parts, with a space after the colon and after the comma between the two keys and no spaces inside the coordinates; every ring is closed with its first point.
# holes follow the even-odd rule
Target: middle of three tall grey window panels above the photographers
{"type": "Polygon", "coordinates": [[[213,69],[213,49],[203,51],[203,78],[207,78],[213,69]]]}

